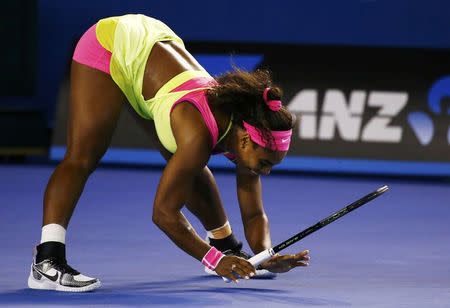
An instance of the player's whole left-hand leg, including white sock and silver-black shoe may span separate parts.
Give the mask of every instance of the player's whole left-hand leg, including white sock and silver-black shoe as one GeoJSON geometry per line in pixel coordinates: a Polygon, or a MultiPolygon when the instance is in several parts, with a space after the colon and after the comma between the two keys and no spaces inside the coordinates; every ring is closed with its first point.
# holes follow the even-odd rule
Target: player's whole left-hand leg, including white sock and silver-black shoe
{"type": "Polygon", "coordinates": [[[65,230],[86,180],[108,148],[124,97],[108,74],[75,61],[70,79],[67,152],[45,191],[42,239],[28,286],[84,292],[101,283],[67,264],[65,230]]]}

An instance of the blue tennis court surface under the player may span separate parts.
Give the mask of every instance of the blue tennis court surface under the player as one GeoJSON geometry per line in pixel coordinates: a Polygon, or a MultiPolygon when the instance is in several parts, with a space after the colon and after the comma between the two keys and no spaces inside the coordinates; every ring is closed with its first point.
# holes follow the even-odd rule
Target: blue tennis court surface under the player
{"type": "MultiPolygon", "coordinates": [[[[274,280],[225,284],[153,225],[160,170],[101,168],[68,230],[69,263],[99,277],[93,293],[27,289],[52,166],[0,165],[2,307],[450,307],[450,183],[271,175],[264,202],[274,244],[382,185],[390,191],[288,249],[311,264],[274,280]]],[[[216,179],[235,233],[234,175],[216,179]]],[[[205,232],[185,211],[196,230],[205,232]]]]}

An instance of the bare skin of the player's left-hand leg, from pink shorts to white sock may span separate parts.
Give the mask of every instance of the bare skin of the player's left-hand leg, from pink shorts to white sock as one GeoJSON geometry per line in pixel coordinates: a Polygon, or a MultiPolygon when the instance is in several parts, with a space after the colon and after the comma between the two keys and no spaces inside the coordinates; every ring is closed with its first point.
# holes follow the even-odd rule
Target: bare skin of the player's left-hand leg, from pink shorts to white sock
{"type": "Polygon", "coordinates": [[[67,152],[44,196],[43,225],[67,228],[84,185],[109,146],[124,95],[111,77],[72,62],[67,152]]]}

